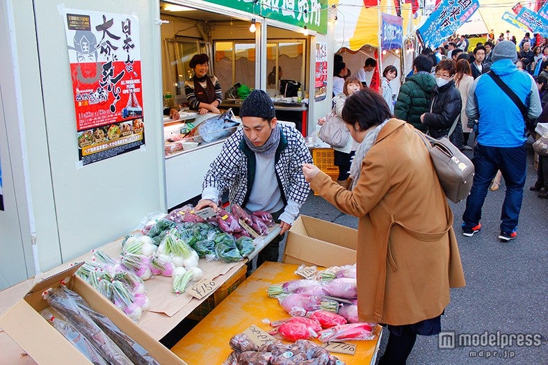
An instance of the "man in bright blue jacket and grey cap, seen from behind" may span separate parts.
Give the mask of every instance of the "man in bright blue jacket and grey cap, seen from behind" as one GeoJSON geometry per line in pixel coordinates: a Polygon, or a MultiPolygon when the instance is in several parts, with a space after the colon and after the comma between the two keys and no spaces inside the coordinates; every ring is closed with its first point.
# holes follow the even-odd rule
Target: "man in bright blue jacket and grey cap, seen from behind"
{"type": "MultiPolygon", "coordinates": [[[[492,51],[491,71],[506,83],[527,107],[533,120],[540,115],[540,97],[535,81],[526,72],[519,72],[515,44],[499,42],[492,51]]],[[[506,182],[506,197],[501,213],[503,242],[516,237],[517,220],[522,206],[526,178],[526,126],[522,113],[489,74],[479,76],[468,94],[466,115],[478,120],[478,145],[474,151],[476,175],[462,215],[462,234],[471,237],[481,229],[481,208],[487,188],[501,170],[506,182]]]]}

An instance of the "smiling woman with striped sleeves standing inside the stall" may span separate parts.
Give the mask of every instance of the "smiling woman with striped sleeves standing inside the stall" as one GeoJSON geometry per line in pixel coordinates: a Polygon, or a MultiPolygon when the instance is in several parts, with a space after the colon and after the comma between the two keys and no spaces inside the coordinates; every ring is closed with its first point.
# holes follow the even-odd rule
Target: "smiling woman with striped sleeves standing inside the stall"
{"type": "Polygon", "coordinates": [[[200,114],[220,114],[218,106],[223,101],[223,90],[216,76],[209,76],[209,56],[195,54],[188,63],[194,71],[192,79],[184,82],[186,100],[192,110],[200,114]]]}

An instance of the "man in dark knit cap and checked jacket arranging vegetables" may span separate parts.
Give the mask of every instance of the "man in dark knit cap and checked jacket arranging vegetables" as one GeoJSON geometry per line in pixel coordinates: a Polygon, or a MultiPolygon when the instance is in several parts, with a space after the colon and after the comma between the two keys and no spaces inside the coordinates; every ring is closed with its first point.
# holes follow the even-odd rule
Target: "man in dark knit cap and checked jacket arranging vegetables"
{"type": "Polygon", "coordinates": [[[277,261],[280,241],[308,197],[303,163],[312,156],[300,132],[276,120],[274,104],[263,90],[253,90],[240,108],[243,128],[230,136],[211,163],[196,210],[218,211],[220,197],[247,211],[269,211],[280,224],[280,235],[259,252],[257,267],[277,261]]]}

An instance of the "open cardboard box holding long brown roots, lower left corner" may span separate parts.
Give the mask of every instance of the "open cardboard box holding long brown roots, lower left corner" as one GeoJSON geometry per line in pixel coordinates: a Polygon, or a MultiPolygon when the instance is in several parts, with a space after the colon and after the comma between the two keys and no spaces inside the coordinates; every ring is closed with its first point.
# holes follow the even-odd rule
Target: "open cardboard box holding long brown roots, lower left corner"
{"type": "Polygon", "coordinates": [[[118,307],[88,283],[74,275],[80,265],[62,271],[35,284],[24,298],[0,316],[0,327],[40,365],[92,364],[72,343],[51,326],[39,311],[48,307],[42,293],[70,277],[67,287],[79,293],[90,306],[117,325],[145,348],[160,364],[186,364],[177,355],[144,332],[118,307]]]}

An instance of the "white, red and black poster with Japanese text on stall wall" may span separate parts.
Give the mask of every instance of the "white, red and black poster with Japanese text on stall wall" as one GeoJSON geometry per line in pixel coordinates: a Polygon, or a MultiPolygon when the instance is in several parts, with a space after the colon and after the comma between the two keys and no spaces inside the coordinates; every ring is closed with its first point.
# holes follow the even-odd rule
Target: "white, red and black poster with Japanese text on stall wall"
{"type": "Polygon", "coordinates": [[[138,18],[65,9],[65,29],[81,165],[144,146],[138,18]]]}

